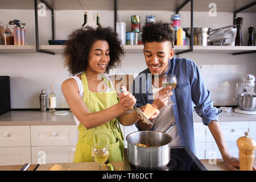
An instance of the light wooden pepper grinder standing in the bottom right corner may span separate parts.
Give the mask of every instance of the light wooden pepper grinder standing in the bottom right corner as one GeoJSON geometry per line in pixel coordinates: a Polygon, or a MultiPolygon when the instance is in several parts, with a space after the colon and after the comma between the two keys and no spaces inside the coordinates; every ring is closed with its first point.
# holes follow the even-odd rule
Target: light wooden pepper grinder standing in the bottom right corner
{"type": "Polygon", "coordinates": [[[240,171],[253,171],[255,140],[249,137],[248,132],[245,132],[245,137],[238,138],[237,146],[239,148],[240,171]]]}

